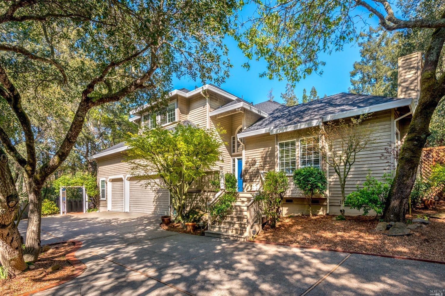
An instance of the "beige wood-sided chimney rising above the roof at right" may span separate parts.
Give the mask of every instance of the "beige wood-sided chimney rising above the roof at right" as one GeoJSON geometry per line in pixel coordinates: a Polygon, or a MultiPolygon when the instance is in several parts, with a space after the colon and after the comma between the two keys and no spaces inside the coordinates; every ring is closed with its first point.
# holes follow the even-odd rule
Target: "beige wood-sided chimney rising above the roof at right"
{"type": "Polygon", "coordinates": [[[397,97],[413,98],[414,108],[420,98],[420,76],[422,71],[422,53],[413,52],[401,56],[397,67],[397,97]]]}

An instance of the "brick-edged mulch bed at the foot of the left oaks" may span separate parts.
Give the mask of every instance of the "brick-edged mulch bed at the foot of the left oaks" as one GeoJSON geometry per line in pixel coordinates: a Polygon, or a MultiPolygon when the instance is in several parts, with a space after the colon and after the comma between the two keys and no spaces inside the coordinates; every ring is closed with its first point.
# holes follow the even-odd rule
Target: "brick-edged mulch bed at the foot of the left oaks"
{"type": "Polygon", "coordinates": [[[51,245],[49,251],[40,253],[39,259],[34,263],[35,269],[27,269],[13,279],[0,280],[0,296],[20,295],[57,283],[70,276],[75,268],[65,259],[65,256],[71,252],[73,246],[73,242],[51,245]],[[45,270],[57,263],[61,268],[46,274],[45,270]]]}

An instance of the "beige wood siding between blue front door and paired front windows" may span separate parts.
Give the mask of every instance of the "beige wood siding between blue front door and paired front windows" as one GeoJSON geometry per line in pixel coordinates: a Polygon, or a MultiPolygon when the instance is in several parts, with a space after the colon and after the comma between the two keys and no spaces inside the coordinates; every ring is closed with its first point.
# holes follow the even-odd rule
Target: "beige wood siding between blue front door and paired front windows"
{"type": "Polygon", "coordinates": [[[253,191],[259,185],[259,171],[275,169],[275,135],[252,136],[244,141],[244,191],[253,191]]]}

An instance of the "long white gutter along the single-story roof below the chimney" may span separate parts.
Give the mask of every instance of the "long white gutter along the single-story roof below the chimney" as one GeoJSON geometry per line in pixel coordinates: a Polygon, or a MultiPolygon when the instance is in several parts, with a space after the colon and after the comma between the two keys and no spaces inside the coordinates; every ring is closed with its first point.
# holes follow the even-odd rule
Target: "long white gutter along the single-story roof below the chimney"
{"type": "Polygon", "coordinates": [[[300,130],[303,128],[320,125],[321,122],[336,120],[336,119],[340,119],[340,118],[352,117],[352,116],[356,116],[356,115],[360,115],[360,114],[383,111],[383,110],[393,109],[393,108],[397,108],[397,107],[411,106],[412,103],[413,103],[413,99],[411,99],[411,98],[400,99],[400,100],[396,100],[393,102],[378,104],[378,105],[374,105],[374,106],[370,106],[370,107],[357,108],[354,110],[329,114],[329,115],[323,116],[322,119],[314,119],[314,120],[310,120],[307,122],[302,122],[302,123],[293,124],[293,125],[289,125],[289,126],[280,126],[277,128],[274,128],[273,126],[271,126],[271,127],[267,127],[267,128],[263,128],[263,129],[259,129],[259,130],[247,131],[247,132],[238,134],[238,137],[245,138],[245,137],[254,136],[254,135],[258,135],[258,134],[266,134],[266,133],[279,134],[279,133],[283,133],[283,132],[287,132],[287,131],[291,131],[291,130],[300,130]]]}

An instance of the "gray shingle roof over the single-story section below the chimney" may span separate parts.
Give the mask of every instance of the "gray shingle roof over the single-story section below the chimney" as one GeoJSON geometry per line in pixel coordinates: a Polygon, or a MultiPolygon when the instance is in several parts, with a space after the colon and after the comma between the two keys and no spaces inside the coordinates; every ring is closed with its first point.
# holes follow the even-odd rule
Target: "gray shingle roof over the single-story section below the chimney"
{"type": "Polygon", "coordinates": [[[274,128],[290,126],[322,118],[329,114],[370,107],[383,103],[393,102],[403,98],[392,98],[377,95],[359,95],[341,92],[323,99],[303,103],[291,107],[281,105],[269,114],[268,117],[255,122],[244,132],[259,130],[273,126],[274,128]]]}

